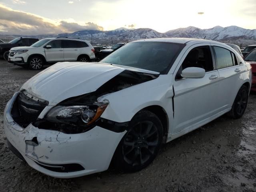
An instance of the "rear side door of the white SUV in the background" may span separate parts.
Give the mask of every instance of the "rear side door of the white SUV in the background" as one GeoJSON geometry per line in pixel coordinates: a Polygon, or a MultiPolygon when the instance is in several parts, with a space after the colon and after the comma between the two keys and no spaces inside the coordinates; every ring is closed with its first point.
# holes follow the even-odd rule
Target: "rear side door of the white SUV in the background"
{"type": "Polygon", "coordinates": [[[76,40],[62,40],[65,61],[76,61],[80,55],[80,42],[76,40]]]}

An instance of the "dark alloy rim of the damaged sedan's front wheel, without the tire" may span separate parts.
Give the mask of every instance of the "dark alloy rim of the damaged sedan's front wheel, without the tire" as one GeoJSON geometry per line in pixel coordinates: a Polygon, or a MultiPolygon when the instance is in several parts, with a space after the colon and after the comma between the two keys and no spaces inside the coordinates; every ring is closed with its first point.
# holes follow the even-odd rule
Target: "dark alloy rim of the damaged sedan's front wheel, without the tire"
{"type": "Polygon", "coordinates": [[[131,166],[142,165],[149,160],[158,146],[156,125],[148,120],[139,122],[128,131],[123,144],[123,156],[131,166]]]}

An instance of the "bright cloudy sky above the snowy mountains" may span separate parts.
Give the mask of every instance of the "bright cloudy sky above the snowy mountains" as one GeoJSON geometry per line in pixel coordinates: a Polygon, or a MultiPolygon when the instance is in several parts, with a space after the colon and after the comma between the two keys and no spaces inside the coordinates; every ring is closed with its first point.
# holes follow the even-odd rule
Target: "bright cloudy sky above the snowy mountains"
{"type": "Polygon", "coordinates": [[[0,0],[0,34],[196,26],[256,29],[256,0],[0,0]]]}

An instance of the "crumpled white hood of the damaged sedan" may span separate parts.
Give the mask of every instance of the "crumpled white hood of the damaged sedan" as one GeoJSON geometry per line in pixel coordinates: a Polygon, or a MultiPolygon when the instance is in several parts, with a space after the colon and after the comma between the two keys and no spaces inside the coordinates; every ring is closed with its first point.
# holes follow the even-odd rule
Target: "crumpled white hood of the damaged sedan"
{"type": "Polygon", "coordinates": [[[67,98],[94,92],[124,70],[96,62],[59,62],[30,78],[20,90],[56,105],[67,98]]]}

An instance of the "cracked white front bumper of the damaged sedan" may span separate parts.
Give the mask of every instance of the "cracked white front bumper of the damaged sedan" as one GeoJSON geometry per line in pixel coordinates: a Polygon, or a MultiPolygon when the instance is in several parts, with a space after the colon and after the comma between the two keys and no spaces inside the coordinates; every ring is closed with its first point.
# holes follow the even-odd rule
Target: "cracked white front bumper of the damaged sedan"
{"type": "Polygon", "coordinates": [[[96,126],[81,134],[39,129],[32,124],[20,127],[10,114],[17,94],[8,102],[4,111],[4,132],[10,144],[34,169],[57,178],[72,178],[108,169],[120,140],[126,133],[112,132],[96,126]],[[30,141],[37,141],[33,145],[30,141]],[[28,142],[29,141],[29,142],[28,142]],[[41,164],[40,164],[41,163],[41,164]],[[79,164],[84,170],[57,172],[42,166],[79,164]]]}

